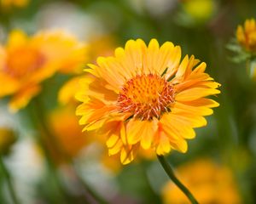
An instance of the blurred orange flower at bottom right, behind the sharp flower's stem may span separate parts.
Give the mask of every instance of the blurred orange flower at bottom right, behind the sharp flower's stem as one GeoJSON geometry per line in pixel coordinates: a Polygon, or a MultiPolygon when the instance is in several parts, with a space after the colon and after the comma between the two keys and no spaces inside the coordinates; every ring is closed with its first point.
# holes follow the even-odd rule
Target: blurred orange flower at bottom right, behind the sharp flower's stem
{"type": "MultiPolygon", "coordinates": [[[[177,174],[183,178],[183,184],[191,190],[199,203],[241,203],[236,183],[228,167],[202,159],[178,167],[177,174]]],[[[163,188],[162,198],[165,204],[189,203],[186,195],[172,182],[168,182],[163,188]]]]}

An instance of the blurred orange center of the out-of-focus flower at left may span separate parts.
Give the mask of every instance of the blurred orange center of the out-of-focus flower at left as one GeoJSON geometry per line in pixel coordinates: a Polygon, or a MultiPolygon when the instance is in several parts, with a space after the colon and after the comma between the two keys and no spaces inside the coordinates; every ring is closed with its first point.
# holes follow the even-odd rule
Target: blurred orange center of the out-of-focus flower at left
{"type": "Polygon", "coordinates": [[[9,52],[5,71],[12,77],[25,77],[44,64],[44,56],[34,48],[17,48],[9,52]]]}

